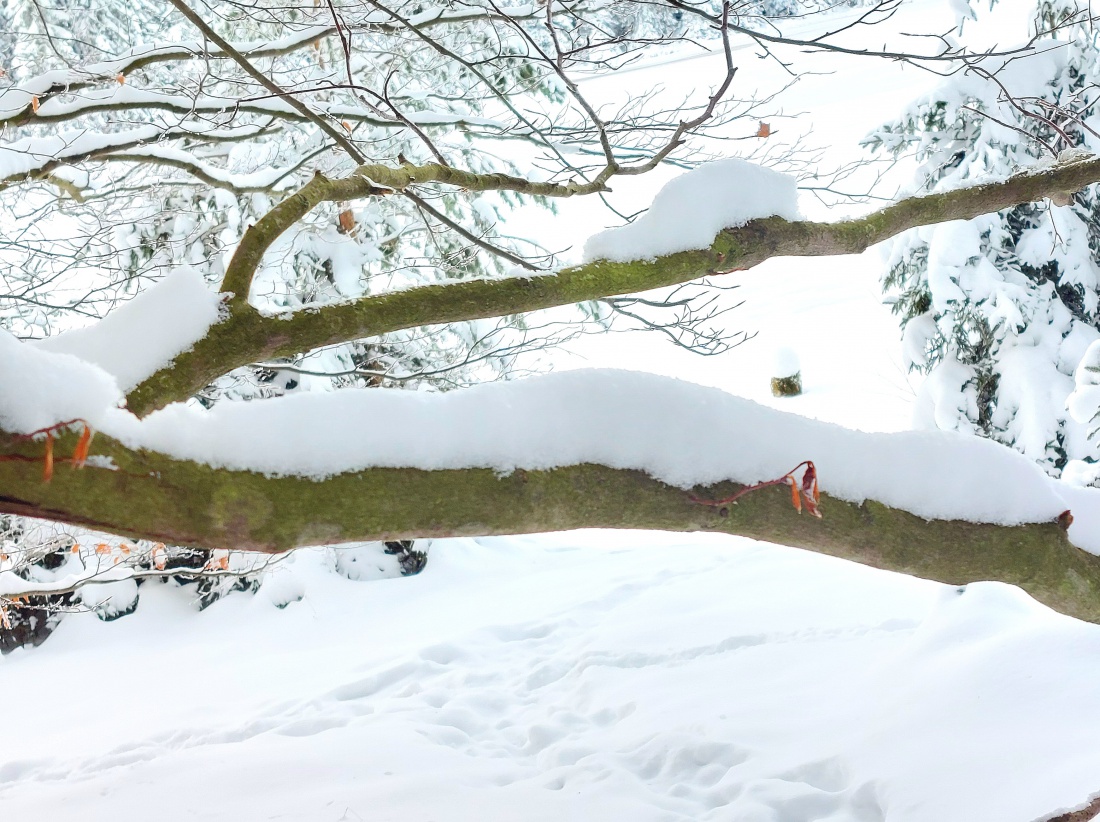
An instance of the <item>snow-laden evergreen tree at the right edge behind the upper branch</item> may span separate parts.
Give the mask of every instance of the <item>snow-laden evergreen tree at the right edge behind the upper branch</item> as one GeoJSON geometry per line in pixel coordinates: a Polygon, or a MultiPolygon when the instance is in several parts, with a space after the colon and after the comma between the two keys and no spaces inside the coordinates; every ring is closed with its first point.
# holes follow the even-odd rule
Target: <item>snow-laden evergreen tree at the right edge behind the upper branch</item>
{"type": "MultiPolygon", "coordinates": [[[[915,191],[1100,147],[1100,50],[1086,11],[1072,0],[1043,0],[1030,13],[1019,3],[975,3],[975,11],[967,25],[1014,19],[1044,53],[956,73],[869,138],[876,150],[915,153],[915,191]]],[[[891,243],[884,285],[906,357],[928,373],[924,424],[991,437],[1052,474],[1096,483],[1092,414],[1078,409],[1075,418],[1067,398],[1086,349],[1100,339],[1098,226],[1100,196],[1088,187],[891,243]]]]}

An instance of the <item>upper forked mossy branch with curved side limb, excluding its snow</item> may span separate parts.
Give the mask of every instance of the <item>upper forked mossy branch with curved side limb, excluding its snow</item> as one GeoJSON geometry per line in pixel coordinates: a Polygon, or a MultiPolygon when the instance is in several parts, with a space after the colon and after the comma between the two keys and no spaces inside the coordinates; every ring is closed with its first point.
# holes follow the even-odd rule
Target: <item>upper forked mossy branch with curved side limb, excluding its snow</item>
{"type": "Polygon", "coordinates": [[[275,239],[320,201],[350,200],[422,182],[461,185],[471,190],[557,191],[558,196],[578,193],[587,185],[528,183],[507,175],[477,175],[439,165],[364,166],[356,176],[341,180],[318,176],[246,232],[226,275],[223,289],[238,295],[229,319],[212,327],[205,339],[173,365],[138,385],[128,404],[142,416],[185,399],[234,368],[404,328],[634,294],[748,268],[773,256],[855,254],[911,228],[972,219],[1021,202],[1065,196],[1097,180],[1100,180],[1100,158],[1067,158],[998,183],[911,197],[844,222],[788,222],[778,217],[754,220],[721,232],[710,249],[656,260],[595,261],[552,275],[432,285],[301,311],[288,319],[264,317],[243,302],[252,274],[275,239]]]}

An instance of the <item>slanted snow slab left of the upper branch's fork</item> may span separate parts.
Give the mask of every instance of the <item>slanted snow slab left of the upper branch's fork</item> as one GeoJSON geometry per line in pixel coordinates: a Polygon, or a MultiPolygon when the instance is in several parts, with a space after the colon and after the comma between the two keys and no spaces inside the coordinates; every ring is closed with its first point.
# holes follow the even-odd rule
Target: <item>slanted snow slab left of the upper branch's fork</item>
{"type": "Polygon", "coordinates": [[[88,328],[35,344],[94,363],[129,391],[202,339],[221,302],[194,268],[177,268],[88,328]]]}

